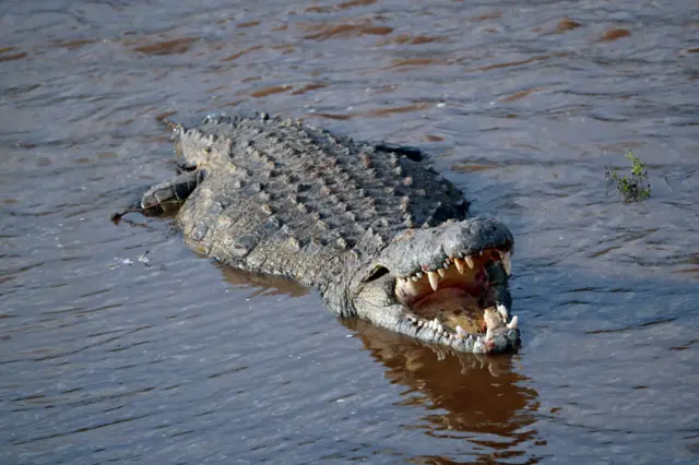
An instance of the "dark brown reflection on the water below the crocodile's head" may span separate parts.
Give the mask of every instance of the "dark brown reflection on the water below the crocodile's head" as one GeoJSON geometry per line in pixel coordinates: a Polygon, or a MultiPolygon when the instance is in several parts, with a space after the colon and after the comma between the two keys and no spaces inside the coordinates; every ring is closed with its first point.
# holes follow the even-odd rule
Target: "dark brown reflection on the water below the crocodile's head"
{"type": "MultiPolygon", "coordinates": [[[[399,405],[420,405],[425,433],[435,438],[465,438],[483,458],[523,457],[537,441],[538,392],[518,372],[514,356],[455,354],[423,345],[360,320],[344,320],[371,356],[386,367],[392,383],[410,388],[399,405]],[[465,434],[464,434],[465,433],[465,434]],[[474,434],[477,434],[474,436],[474,434]]],[[[454,463],[429,457],[430,463],[454,463]]],[[[526,463],[532,463],[528,457],[526,463]]]]}

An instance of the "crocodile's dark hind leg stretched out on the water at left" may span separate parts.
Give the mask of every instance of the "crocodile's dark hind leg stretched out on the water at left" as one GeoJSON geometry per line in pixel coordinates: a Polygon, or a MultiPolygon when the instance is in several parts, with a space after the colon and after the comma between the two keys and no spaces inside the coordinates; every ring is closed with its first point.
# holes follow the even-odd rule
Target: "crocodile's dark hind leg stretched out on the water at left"
{"type": "Polygon", "coordinates": [[[149,189],[140,200],[111,215],[117,222],[128,213],[138,212],[146,216],[177,211],[197,186],[203,180],[203,171],[187,171],[149,189]]]}

